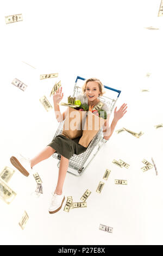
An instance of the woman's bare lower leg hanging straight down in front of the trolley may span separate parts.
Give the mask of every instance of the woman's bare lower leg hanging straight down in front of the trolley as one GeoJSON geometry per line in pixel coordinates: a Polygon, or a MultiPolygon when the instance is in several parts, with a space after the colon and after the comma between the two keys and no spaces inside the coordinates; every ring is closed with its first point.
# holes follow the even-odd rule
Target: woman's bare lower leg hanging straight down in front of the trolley
{"type": "Polygon", "coordinates": [[[68,169],[68,163],[69,163],[69,160],[66,157],[61,155],[60,166],[59,166],[59,174],[58,174],[58,182],[57,182],[57,187],[55,188],[55,192],[57,194],[62,193],[62,187],[64,185],[66,172],[67,172],[67,169],[68,169]]]}

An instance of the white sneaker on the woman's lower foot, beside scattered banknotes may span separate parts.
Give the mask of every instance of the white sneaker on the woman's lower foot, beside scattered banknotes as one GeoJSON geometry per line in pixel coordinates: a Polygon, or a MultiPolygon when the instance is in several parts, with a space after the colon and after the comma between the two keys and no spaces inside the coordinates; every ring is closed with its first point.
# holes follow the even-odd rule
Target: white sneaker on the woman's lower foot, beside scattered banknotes
{"type": "Polygon", "coordinates": [[[53,193],[52,202],[49,206],[49,214],[54,214],[59,211],[64,203],[65,196],[64,194],[55,194],[53,193]]]}

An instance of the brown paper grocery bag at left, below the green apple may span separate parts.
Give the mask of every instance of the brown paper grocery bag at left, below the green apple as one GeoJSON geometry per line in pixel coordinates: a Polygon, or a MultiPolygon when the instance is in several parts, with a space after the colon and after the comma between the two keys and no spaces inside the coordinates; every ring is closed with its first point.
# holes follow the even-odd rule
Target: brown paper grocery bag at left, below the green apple
{"type": "Polygon", "coordinates": [[[68,107],[63,131],[61,135],[64,135],[68,139],[75,139],[82,136],[82,127],[84,126],[86,119],[86,111],[79,111],[77,109],[68,107]]]}

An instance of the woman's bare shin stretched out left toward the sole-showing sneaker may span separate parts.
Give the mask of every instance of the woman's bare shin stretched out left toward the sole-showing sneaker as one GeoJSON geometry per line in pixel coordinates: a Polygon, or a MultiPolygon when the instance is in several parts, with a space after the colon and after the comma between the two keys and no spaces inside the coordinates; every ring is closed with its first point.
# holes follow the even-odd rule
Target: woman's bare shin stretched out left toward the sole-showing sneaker
{"type": "Polygon", "coordinates": [[[38,155],[30,160],[30,167],[35,166],[36,163],[39,163],[45,159],[48,159],[56,150],[50,146],[46,146],[38,155]]]}

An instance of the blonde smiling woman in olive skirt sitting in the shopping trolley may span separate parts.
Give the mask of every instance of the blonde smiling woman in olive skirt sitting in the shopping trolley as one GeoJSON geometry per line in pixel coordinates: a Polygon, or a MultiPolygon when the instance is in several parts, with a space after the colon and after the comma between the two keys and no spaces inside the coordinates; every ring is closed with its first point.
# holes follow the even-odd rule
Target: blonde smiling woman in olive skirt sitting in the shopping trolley
{"type": "MultiPolygon", "coordinates": [[[[98,102],[99,96],[102,96],[104,92],[104,86],[96,78],[87,79],[83,86],[83,94],[80,94],[76,97],[77,100],[80,100],[82,103],[87,103],[89,106],[93,107],[98,102]]],[[[62,100],[64,93],[62,93],[62,87],[55,92],[53,95],[54,102],[54,111],[55,117],[58,122],[61,122],[65,119],[65,114],[61,114],[58,103],[62,100]]],[[[117,107],[114,110],[114,119],[112,120],[111,126],[109,127],[109,118],[110,118],[110,110],[108,106],[104,103],[102,107],[107,113],[107,119],[105,122],[105,126],[103,126],[103,135],[104,139],[108,140],[112,132],[115,129],[115,126],[123,115],[127,112],[127,104],[123,104],[120,109],[117,111],[117,107]]],[[[55,152],[60,153],[60,167],[58,174],[58,182],[53,193],[52,202],[49,206],[49,213],[53,214],[59,211],[62,207],[62,204],[65,200],[65,196],[62,193],[62,188],[65,181],[66,172],[68,169],[69,159],[73,154],[79,155],[86,151],[87,148],[78,144],[79,138],[76,139],[68,139],[64,135],[56,136],[51,143],[49,143],[38,155],[36,155],[33,159],[27,159],[23,156],[11,156],[10,161],[14,167],[16,167],[23,175],[28,176],[30,170],[32,170],[35,164],[48,159],[48,157],[52,156],[55,152]]]]}

